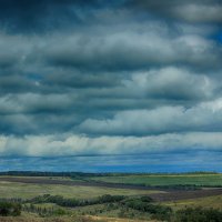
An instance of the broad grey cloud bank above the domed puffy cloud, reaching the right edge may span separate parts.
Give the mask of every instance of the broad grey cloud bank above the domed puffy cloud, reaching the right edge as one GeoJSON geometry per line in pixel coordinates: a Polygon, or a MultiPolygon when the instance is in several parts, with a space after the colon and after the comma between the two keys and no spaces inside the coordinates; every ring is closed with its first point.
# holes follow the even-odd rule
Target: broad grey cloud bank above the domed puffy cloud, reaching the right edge
{"type": "Polygon", "coordinates": [[[60,44],[54,40],[44,54],[52,65],[83,70],[124,71],[170,64],[221,67],[221,50],[213,42],[198,36],[172,38],[155,29],[152,31],[150,34],[144,28],[143,34],[130,30],[108,34],[98,30],[99,36],[73,34],[60,44]]]}

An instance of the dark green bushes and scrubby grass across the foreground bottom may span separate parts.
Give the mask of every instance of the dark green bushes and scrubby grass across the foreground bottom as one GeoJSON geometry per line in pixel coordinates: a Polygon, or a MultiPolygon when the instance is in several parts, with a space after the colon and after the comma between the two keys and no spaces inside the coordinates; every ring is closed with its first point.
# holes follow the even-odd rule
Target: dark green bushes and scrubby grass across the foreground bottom
{"type": "MultiPolygon", "coordinates": [[[[169,221],[169,222],[221,222],[222,211],[216,209],[203,209],[203,208],[183,208],[178,211],[173,211],[172,208],[158,204],[149,196],[141,198],[125,198],[125,196],[112,196],[103,195],[94,200],[82,200],[78,201],[74,199],[64,199],[62,196],[37,196],[31,200],[1,200],[0,202],[0,216],[19,216],[21,209],[28,216],[29,221],[105,221],[98,220],[107,218],[109,221],[110,212],[118,212],[115,218],[124,218],[130,220],[145,220],[145,221],[169,221]],[[17,201],[17,202],[16,202],[17,201]],[[50,206],[48,203],[56,203],[50,206]],[[42,205],[41,205],[42,204],[42,205]],[[57,208],[61,205],[63,208],[57,208]],[[91,206],[88,212],[73,209],[77,206],[91,206]],[[71,209],[67,209],[71,206],[71,209]],[[90,210],[90,211],[89,211],[90,210]],[[90,218],[89,215],[94,215],[90,218]],[[36,215],[34,220],[32,220],[36,215]],[[104,216],[105,215],[105,216],[104,216]],[[41,221],[41,220],[40,220],[41,221]]],[[[11,218],[6,220],[0,218],[0,221],[26,221],[22,218],[11,218]]],[[[111,220],[110,220],[111,221],[111,220]]],[[[115,220],[117,221],[117,220],[115,220]]]]}

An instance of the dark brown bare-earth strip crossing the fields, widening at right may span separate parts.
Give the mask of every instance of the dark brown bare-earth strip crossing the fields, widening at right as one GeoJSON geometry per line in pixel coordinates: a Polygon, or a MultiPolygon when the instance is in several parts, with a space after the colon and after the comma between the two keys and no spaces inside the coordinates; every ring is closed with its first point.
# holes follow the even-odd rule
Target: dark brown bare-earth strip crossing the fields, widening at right
{"type": "MultiPolygon", "coordinates": [[[[83,185],[83,186],[101,186],[101,188],[114,188],[114,189],[130,189],[130,190],[160,190],[152,189],[142,185],[128,185],[119,183],[104,183],[104,182],[84,182],[84,181],[68,181],[68,180],[56,180],[46,178],[11,178],[11,176],[0,176],[0,181],[8,182],[20,182],[20,183],[31,183],[31,184],[61,184],[61,185],[83,185]]],[[[188,200],[196,198],[205,198],[212,195],[222,195],[222,189],[209,189],[209,190],[195,190],[195,191],[179,191],[179,190],[164,190],[165,193],[152,193],[149,194],[155,201],[178,201],[188,200]]]]}

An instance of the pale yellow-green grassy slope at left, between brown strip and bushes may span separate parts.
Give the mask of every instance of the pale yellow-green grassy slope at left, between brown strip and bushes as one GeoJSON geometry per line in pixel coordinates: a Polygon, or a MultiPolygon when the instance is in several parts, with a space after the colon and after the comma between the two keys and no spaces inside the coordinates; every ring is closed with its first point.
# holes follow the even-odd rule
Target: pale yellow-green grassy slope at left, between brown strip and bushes
{"type": "Polygon", "coordinates": [[[140,191],[94,186],[69,186],[56,184],[26,184],[17,182],[0,182],[0,198],[29,199],[42,194],[62,195],[64,198],[89,199],[103,194],[140,195],[159,191],[140,191]]]}

